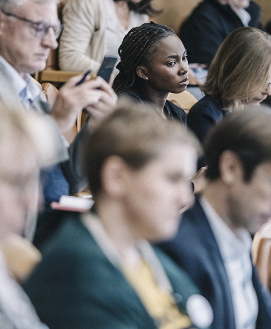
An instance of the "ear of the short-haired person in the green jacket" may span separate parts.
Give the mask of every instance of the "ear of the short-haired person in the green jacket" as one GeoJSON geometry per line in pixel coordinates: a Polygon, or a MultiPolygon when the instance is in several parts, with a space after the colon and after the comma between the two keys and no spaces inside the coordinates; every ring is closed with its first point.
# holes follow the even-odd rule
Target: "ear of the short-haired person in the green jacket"
{"type": "Polygon", "coordinates": [[[100,172],[102,190],[111,197],[121,197],[125,190],[126,162],[117,155],[108,157],[100,172]]]}

